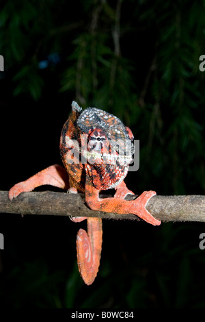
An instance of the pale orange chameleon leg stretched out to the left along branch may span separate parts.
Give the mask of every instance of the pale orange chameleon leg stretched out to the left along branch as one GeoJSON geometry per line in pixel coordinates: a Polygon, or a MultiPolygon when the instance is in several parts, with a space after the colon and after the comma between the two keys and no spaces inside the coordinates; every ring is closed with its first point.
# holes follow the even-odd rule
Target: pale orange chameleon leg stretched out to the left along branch
{"type": "Polygon", "coordinates": [[[68,173],[66,169],[58,164],[49,166],[48,168],[36,173],[29,179],[18,182],[9,191],[9,199],[17,197],[20,193],[31,191],[38,186],[44,184],[51,184],[58,188],[67,189],[69,188],[68,173]]]}

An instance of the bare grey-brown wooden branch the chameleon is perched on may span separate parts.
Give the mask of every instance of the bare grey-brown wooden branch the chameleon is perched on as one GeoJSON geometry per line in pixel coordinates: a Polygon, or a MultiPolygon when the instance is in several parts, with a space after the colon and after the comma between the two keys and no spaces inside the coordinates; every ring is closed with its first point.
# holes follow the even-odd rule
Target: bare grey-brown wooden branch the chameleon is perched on
{"type": "MultiPolygon", "coordinates": [[[[100,195],[100,197],[111,197],[100,195]]],[[[127,200],[137,196],[128,195],[127,200]]],[[[154,196],[146,208],[161,221],[205,221],[205,196],[154,196]]],[[[134,214],[112,214],[90,210],[82,194],[54,193],[51,191],[21,193],[8,199],[8,191],[0,191],[0,212],[13,214],[49,214],[55,216],[93,216],[104,219],[139,220],[134,214]]]]}

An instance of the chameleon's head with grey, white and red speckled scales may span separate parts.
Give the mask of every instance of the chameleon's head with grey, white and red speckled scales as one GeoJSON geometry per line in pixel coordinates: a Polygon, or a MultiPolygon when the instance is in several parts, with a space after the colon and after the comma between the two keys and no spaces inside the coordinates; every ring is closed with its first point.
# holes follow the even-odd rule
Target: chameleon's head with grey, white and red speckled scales
{"type": "Polygon", "coordinates": [[[120,184],[133,160],[133,134],[118,117],[98,108],[87,108],[77,119],[81,134],[87,134],[87,163],[94,186],[100,190],[120,184]]]}

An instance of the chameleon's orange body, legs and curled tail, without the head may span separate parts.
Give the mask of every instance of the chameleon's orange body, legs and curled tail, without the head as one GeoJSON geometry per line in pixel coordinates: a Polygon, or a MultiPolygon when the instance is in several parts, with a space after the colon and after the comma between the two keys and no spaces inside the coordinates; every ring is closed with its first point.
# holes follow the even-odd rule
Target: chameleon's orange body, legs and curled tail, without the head
{"type": "MultiPolygon", "coordinates": [[[[146,191],[133,201],[126,201],[124,197],[128,194],[133,194],[128,190],[126,184],[122,180],[118,186],[115,186],[115,195],[113,198],[100,199],[100,190],[94,187],[92,182],[92,164],[82,164],[74,162],[70,164],[70,149],[73,148],[72,140],[79,140],[81,136],[80,130],[77,128],[77,119],[79,111],[72,109],[72,114],[68,121],[64,124],[61,132],[60,151],[61,158],[64,162],[62,166],[54,164],[48,168],[33,175],[24,182],[15,184],[9,191],[9,198],[12,200],[20,193],[31,191],[38,186],[51,184],[62,189],[68,189],[69,193],[85,193],[85,201],[87,206],[92,210],[101,210],[104,212],[115,212],[118,214],[133,213],[141,219],[151,223],[152,225],[160,225],[160,221],[146,210],[146,203],[149,199],[156,195],[154,191],[146,191]]],[[[130,130],[131,131],[131,130],[130,130]]],[[[74,147],[76,149],[76,147],[74,147]]],[[[74,161],[76,156],[73,156],[74,161]]],[[[96,180],[100,182],[100,178],[96,173],[96,180]]],[[[96,182],[95,182],[96,183],[96,182]]],[[[79,222],[87,219],[87,232],[79,230],[77,234],[77,261],[79,272],[85,284],[90,285],[98,273],[100,264],[100,253],[102,248],[102,220],[100,218],[75,217],[72,221],[79,222]]]]}

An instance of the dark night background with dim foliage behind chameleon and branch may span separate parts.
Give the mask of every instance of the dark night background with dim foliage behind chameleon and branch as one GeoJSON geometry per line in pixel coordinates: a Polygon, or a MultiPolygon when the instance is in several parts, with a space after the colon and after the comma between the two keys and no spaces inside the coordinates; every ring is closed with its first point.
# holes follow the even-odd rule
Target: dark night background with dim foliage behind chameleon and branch
{"type": "MultiPolygon", "coordinates": [[[[204,195],[205,1],[2,1],[1,190],[61,164],[72,100],[140,140],[139,194],[204,195]]],[[[38,190],[50,189],[50,186],[38,190]]],[[[3,308],[204,308],[204,223],[103,221],[92,286],[68,218],[1,214],[3,308]]]]}

